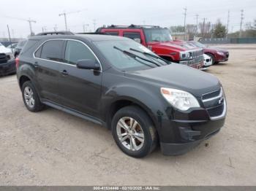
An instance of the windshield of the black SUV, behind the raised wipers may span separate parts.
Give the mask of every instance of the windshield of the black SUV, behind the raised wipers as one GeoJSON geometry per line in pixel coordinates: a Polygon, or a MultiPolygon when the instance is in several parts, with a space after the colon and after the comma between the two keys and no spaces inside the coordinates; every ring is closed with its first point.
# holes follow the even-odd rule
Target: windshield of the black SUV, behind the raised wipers
{"type": "Polygon", "coordinates": [[[107,58],[108,61],[113,64],[113,66],[121,71],[152,69],[157,67],[155,63],[159,64],[159,66],[167,64],[160,59],[151,58],[150,56],[143,55],[141,52],[148,52],[151,55],[155,54],[143,45],[130,39],[116,41],[99,41],[94,42],[94,44],[96,44],[96,46],[105,56],[105,58],[107,58]],[[139,50],[141,52],[135,52],[133,49],[139,50]],[[131,52],[133,55],[138,55],[138,57],[140,58],[133,58],[131,55],[122,52],[121,50],[131,52]]]}

